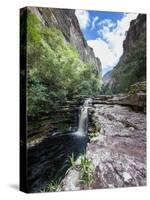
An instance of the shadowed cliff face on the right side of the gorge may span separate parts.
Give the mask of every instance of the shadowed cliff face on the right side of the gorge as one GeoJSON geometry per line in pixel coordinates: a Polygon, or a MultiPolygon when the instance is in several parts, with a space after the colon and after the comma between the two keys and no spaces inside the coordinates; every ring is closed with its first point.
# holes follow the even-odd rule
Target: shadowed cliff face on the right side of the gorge
{"type": "Polygon", "coordinates": [[[123,42],[123,55],[111,74],[103,78],[112,92],[127,92],[136,82],[146,80],[146,15],[131,21],[123,42]]]}

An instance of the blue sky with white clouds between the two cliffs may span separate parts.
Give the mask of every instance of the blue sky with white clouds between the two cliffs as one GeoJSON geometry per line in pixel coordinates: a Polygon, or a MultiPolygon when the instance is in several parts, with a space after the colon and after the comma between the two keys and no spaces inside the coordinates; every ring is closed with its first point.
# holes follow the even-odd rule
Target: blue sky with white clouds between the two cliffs
{"type": "Polygon", "coordinates": [[[82,33],[101,60],[102,75],[112,70],[123,53],[123,41],[137,13],[76,10],[82,33]]]}

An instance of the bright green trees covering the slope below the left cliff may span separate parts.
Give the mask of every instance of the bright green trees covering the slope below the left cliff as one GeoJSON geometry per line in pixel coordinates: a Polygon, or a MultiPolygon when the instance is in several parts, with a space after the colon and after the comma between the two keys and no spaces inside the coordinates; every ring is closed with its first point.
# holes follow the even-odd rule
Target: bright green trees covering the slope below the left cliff
{"type": "Polygon", "coordinates": [[[27,109],[39,116],[74,95],[93,95],[100,90],[93,66],[84,63],[77,50],[55,27],[45,27],[28,11],[27,16],[27,109]]]}

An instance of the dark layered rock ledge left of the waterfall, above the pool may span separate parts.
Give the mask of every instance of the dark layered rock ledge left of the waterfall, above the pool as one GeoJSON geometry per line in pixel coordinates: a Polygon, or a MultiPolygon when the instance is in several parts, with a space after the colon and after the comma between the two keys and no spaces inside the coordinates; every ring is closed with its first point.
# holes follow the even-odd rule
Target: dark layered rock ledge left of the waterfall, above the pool
{"type": "Polygon", "coordinates": [[[28,119],[28,146],[34,146],[47,137],[77,130],[78,115],[83,98],[75,98],[42,113],[39,119],[28,119]]]}

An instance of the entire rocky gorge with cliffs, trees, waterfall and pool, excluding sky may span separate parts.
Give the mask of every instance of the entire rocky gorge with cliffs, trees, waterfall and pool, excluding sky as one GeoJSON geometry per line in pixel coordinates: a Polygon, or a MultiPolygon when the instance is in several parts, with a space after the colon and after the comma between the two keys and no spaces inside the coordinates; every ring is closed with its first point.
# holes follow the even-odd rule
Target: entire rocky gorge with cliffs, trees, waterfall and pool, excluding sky
{"type": "Polygon", "coordinates": [[[146,185],[145,15],[131,22],[123,55],[103,85],[100,59],[75,10],[24,8],[21,30],[27,192],[146,185]]]}

